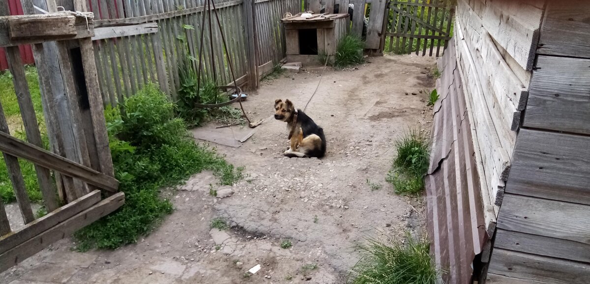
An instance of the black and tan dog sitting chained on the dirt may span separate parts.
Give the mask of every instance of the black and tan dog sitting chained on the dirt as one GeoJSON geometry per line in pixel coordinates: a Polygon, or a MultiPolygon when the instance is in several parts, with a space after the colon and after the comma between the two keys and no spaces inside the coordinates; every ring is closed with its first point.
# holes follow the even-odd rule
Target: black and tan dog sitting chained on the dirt
{"type": "Polygon", "coordinates": [[[274,119],[287,123],[290,147],[283,154],[289,158],[322,158],[326,154],[326,136],[303,110],[295,109],[290,100],[274,101],[274,119]]]}

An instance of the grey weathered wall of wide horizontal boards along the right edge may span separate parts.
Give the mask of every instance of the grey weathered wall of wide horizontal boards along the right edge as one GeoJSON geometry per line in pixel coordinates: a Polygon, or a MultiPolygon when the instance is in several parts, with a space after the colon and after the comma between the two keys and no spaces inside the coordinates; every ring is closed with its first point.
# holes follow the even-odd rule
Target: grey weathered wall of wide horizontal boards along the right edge
{"type": "Polygon", "coordinates": [[[545,5],[486,283],[590,283],[590,2],[545,5]]]}

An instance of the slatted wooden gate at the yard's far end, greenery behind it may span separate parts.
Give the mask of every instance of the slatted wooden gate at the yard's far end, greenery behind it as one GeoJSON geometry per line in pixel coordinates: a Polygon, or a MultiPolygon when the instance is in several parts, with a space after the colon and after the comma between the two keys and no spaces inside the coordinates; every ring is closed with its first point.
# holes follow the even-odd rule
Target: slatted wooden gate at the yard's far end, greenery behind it
{"type": "Polygon", "coordinates": [[[397,54],[440,55],[451,39],[455,0],[392,0],[389,2],[385,50],[397,54]]]}

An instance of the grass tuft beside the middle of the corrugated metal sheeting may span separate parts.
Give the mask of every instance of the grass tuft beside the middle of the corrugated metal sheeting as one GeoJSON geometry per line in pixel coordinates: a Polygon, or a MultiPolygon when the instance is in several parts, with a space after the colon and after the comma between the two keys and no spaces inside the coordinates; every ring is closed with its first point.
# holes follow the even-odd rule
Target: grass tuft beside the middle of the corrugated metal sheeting
{"type": "Polygon", "coordinates": [[[428,170],[430,140],[419,130],[409,130],[395,141],[397,156],[386,181],[396,194],[418,194],[424,190],[422,177],[428,170]]]}

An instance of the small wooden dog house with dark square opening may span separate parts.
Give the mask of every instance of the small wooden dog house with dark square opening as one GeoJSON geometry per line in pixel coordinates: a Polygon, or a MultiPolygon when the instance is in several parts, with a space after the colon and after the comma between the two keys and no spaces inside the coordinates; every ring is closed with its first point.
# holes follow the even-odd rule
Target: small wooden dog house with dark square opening
{"type": "Polygon", "coordinates": [[[348,14],[300,14],[281,19],[287,41],[287,62],[320,63],[319,55],[333,57],[336,45],[345,37],[350,25],[348,14]]]}

